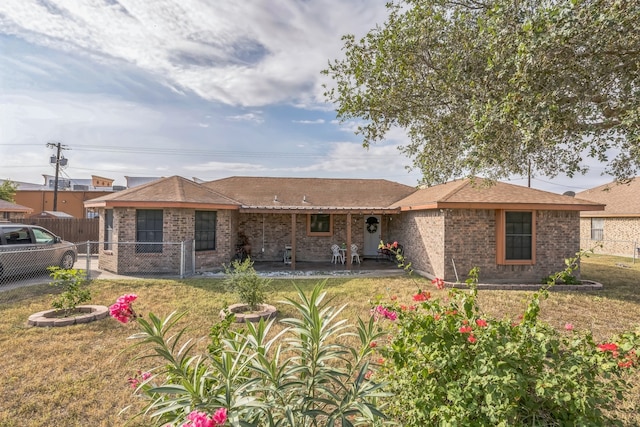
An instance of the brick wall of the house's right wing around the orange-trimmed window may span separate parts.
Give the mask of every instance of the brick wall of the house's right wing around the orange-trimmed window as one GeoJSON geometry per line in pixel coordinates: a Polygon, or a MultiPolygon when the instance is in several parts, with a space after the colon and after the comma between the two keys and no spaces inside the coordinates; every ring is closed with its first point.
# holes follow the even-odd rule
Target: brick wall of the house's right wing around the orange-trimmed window
{"type": "Polygon", "coordinates": [[[579,228],[578,212],[537,211],[535,265],[497,264],[495,210],[403,212],[391,234],[416,272],[427,277],[464,282],[479,267],[483,283],[540,283],[579,251],[579,228]]]}

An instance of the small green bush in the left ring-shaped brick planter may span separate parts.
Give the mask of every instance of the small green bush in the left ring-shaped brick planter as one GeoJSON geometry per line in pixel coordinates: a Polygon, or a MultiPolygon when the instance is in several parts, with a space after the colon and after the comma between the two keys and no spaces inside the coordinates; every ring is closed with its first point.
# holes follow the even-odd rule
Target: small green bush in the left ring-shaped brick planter
{"type": "Polygon", "coordinates": [[[78,305],[91,300],[91,291],[87,287],[89,280],[83,270],[57,266],[49,267],[48,270],[53,278],[51,285],[64,289],[51,303],[53,308],[64,310],[64,315],[69,316],[78,305]]]}

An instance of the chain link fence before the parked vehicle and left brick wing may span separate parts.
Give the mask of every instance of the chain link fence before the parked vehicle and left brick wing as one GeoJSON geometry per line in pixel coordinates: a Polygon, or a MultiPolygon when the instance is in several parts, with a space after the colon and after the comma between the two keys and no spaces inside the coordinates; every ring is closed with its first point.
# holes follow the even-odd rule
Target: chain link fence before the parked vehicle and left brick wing
{"type": "Polygon", "coordinates": [[[87,241],[62,254],[53,249],[5,247],[0,251],[0,292],[49,283],[48,266],[85,270],[88,279],[184,278],[195,273],[195,245],[193,240],[87,241]]]}

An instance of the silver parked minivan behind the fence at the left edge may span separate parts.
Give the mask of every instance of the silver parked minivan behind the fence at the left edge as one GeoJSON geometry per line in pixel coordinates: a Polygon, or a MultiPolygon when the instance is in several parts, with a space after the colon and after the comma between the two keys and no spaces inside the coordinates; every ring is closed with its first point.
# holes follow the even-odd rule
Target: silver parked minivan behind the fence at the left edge
{"type": "Polygon", "coordinates": [[[37,225],[0,223],[0,278],[46,271],[49,266],[73,268],[76,245],[37,225]]]}

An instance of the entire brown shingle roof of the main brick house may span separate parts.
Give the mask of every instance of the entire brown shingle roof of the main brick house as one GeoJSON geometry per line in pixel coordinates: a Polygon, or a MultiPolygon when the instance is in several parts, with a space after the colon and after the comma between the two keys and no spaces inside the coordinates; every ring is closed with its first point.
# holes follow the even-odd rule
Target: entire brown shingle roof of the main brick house
{"type": "Polygon", "coordinates": [[[385,179],[229,177],[198,184],[172,176],[85,202],[86,207],[243,210],[436,208],[602,210],[598,202],[476,178],[416,189],[385,179]]]}

